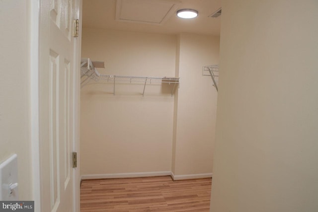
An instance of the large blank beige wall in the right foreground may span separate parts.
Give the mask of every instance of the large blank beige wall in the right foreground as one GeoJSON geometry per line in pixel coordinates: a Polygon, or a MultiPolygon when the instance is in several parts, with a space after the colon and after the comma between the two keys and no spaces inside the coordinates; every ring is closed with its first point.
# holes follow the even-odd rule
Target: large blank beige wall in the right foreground
{"type": "Polygon", "coordinates": [[[222,4],[211,212],[317,212],[318,1],[222,4]]]}

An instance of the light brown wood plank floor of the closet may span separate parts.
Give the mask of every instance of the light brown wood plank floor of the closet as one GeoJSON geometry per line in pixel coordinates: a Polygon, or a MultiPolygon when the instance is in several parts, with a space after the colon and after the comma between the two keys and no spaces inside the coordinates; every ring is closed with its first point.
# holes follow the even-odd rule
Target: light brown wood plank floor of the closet
{"type": "Polygon", "coordinates": [[[209,212],[211,178],[83,180],[80,212],[209,212]]]}

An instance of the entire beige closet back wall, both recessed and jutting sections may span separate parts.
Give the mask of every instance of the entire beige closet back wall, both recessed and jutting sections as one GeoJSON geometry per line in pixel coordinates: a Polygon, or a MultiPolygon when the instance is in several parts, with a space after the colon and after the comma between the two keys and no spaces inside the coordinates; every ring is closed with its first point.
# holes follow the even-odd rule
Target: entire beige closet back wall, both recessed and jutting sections
{"type": "MultiPolygon", "coordinates": [[[[84,29],[82,57],[102,73],[180,76],[170,88],[90,82],[81,89],[81,174],[212,172],[217,92],[202,66],[217,64],[219,37],[84,29]]],[[[195,176],[192,176],[195,177],[195,176]]]]}

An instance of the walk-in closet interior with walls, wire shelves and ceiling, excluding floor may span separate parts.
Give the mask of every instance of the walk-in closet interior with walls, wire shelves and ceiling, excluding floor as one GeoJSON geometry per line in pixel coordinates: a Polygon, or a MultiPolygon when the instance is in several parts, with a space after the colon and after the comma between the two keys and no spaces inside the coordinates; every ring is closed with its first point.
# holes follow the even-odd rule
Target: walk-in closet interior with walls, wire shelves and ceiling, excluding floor
{"type": "Polygon", "coordinates": [[[212,177],[220,17],[209,16],[220,7],[210,0],[83,0],[82,180],[212,177]],[[188,6],[200,10],[196,19],[176,16],[188,6]],[[150,23],[160,14],[166,20],[150,23]]]}

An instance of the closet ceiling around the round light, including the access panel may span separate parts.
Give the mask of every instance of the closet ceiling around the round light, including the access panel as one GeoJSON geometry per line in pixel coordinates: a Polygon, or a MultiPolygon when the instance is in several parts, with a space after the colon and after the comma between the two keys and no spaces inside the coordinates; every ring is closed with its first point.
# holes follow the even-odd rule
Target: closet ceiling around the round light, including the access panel
{"type": "Polygon", "coordinates": [[[220,35],[221,16],[209,17],[221,0],[83,0],[83,28],[178,34],[220,35]],[[199,12],[194,19],[176,16],[176,10],[199,12]],[[133,12],[130,9],[134,9],[133,12]]]}

